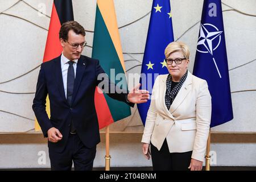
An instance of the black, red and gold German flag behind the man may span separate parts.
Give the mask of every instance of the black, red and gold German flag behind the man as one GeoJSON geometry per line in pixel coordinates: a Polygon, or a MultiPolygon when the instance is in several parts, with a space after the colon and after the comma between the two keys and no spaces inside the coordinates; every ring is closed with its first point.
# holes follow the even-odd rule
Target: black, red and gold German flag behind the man
{"type": "MultiPolygon", "coordinates": [[[[60,56],[63,51],[60,40],[59,31],[61,24],[64,22],[74,20],[72,0],[54,0],[52,5],[52,15],[49,23],[49,30],[46,41],[46,49],[44,50],[43,62],[52,60],[60,56]]],[[[49,112],[49,98],[47,97],[46,111],[49,112]]],[[[38,121],[35,121],[35,131],[40,131],[38,121]]]]}

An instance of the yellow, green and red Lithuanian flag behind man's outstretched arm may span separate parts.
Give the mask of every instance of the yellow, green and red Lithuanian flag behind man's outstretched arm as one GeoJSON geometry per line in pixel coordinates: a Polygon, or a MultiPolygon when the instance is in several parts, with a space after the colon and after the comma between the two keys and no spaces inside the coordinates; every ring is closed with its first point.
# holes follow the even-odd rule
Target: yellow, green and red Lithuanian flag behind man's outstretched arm
{"type": "MultiPolygon", "coordinates": [[[[113,0],[97,0],[92,57],[100,60],[101,67],[109,77],[110,69],[115,70],[115,75],[125,73],[113,0]]],[[[110,79],[117,84],[113,77],[110,79]]],[[[97,90],[95,106],[100,129],[131,115],[130,106],[97,90]]]]}

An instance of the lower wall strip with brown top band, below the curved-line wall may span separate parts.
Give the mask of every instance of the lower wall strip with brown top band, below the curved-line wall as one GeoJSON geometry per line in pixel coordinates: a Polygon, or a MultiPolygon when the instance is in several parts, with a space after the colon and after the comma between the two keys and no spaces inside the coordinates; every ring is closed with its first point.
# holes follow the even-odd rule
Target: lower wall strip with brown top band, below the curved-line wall
{"type": "MultiPolygon", "coordinates": [[[[42,134],[0,135],[1,168],[49,168],[47,140],[42,134]],[[42,153],[46,154],[42,162],[42,153]],[[40,155],[38,155],[40,154],[40,155]]],[[[151,166],[142,155],[142,134],[110,134],[111,167],[151,166]]],[[[211,166],[256,166],[255,134],[212,134],[211,166]]],[[[94,167],[105,166],[105,135],[97,146],[94,167]]]]}

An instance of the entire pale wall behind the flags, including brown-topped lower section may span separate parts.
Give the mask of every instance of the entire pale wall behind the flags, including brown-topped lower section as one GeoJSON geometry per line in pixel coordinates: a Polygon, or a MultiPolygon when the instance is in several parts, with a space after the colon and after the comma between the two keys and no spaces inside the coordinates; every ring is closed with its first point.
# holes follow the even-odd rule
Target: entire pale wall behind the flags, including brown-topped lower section
{"type": "MultiPolygon", "coordinates": [[[[52,0],[0,0],[0,132],[34,133],[34,113],[31,109],[39,66],[46,44],[52,0]],[[45,10],[46,15],[38,13],[45,10]]],[[[119,34],[128,73],[140,73],[146,43],[152,1],[114,0],[119,34]],[[127,61],[131,60],[131,61],[127,61]],[[135,67],[135,68],[132,68],[135,67]],[[132,68],[132,69],[131,69],[132,68]]],[[[171,0],[175,40],[191,48],[192,71],[203,0],[171,0]]],[[[229,61],[230,86],[234,119],[214,127],[215,132],[256,133],[256,1],[222,0],[226,47],[229,61]]],[[[96,0],[73,0],[75,20],[87,30],[86,41],[93,42],[96,0]]],[[[86,47],[84,55],[90,56],[86,47]]],[[[137,107],[132,115],[110,126],[110,131],[141,133],[143,126],[137,107]]],[[[113,166],[150,166],[141,155],[141,134],[113,134],[111,137],[113,166]],[[127,140],[127,141],[125,141],[127,140]],[[125,154],[125,155],[124,155],[125,154]],[[125,157],[124,157],[125,156],[125,157]],[[130,159],[130,160],[127,160],[130,159]]],[[[226,135],[219,135],[222,139],[226,135]]],[[[220,166],[256,166],[255,140],[242,137],[240,142],[216,140],[220,166]],[[243,143],[245,141],[245,143],[243,143]],[[230,157],[230,151],[233,156],[230,157]],[[236,152],[235,152],[236,151],[236,152]],[[248,152],[249,151],[249,152],[248,152]],[[244,155],[246,154],[246,155],[244,155]],[[234,160],[235,158],[236,160],[234,160]]],[[[242,135],[247,136],[247,135],[242,135]]],[[[1,134],[0,168],[48,167],[37,163],[38,151],[47,146],[41,134],[1,134]]],[[[104,166],[104,144],[98,146],[95,166],[104,166]]],[[[48,161],[48,158],[47,158],[48,161]]]]}

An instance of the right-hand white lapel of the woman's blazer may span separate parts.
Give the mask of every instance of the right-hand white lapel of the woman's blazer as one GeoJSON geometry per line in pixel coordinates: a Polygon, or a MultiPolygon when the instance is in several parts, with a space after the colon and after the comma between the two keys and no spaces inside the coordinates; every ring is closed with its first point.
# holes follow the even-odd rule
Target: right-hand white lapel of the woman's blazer
{"type": "Polygon", "coordinates": [[[187,94],[191,91],[192,88],[192,75],[190,72],[188,72],[188,77],[181,86],[179,92],[177,93],[177,96],[174,99],[174,102],[172,102],[172,105],[170,107],[170,112],[174,113],[174,111],[179,107],[179,105],[185,100],[185,97],[187,97],[187,94]]]}

